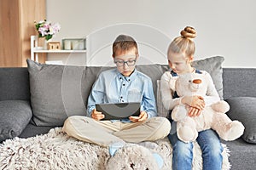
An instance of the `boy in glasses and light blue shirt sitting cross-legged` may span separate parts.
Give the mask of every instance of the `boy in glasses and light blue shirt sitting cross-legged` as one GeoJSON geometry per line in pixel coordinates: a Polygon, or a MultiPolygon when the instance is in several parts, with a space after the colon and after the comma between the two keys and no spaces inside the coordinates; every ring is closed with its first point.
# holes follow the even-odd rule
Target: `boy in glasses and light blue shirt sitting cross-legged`
{"type": "Polygon", "coordinates": [[[164,117],[157,117],[151,79],[135,69],[138,59],[137,42],[119,35],[113,42],[113,62],[116,68],[103,71],[91,90],[87,116],[70,116],[63,130],[74,138],[108,147],[111,156],[125,142],[139,143],[163,139],[171,130],[164,117]],[[141,103],[139,116],[129,119],[101,121],[102,112],[96,111],[101,103],[141,103]]]}

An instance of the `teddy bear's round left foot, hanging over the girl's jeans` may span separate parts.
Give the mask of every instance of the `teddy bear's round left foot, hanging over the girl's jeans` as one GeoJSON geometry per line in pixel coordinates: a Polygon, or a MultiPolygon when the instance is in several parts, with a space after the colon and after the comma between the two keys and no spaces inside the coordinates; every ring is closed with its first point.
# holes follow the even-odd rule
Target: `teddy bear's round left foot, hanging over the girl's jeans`
{"type": "Polygon", "coordinates": [[[198,132],[191,127],[185,126],[177,129],[177,137],[185,143],[195,141],[198,136],[198,132]]]}

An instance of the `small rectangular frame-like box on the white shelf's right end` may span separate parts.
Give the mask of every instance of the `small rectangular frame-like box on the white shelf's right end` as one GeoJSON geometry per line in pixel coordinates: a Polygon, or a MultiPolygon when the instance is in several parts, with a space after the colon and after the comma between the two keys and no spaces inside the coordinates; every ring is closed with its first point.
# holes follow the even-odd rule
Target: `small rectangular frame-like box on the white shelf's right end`
{"type": "Polygon", "coordinates": [[[62,48],[64,50],[84,50],[85,38],[65,38],[62,39],[62,48]]]}

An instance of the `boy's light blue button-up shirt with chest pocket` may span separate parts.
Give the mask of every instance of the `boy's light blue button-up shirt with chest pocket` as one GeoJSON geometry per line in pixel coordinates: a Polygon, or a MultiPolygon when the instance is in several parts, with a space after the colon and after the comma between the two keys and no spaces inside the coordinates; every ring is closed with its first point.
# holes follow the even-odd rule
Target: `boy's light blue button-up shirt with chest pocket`
{"type": "Polygon", "coordinates": [[[124,77],[117,69],[103,71],[90,92],[87,116],[96,108],[96,104],[141,102],[141,111],[148,118],[156,116],[154,91],[151,79],[136,69],[130,77],[124,77]]]}

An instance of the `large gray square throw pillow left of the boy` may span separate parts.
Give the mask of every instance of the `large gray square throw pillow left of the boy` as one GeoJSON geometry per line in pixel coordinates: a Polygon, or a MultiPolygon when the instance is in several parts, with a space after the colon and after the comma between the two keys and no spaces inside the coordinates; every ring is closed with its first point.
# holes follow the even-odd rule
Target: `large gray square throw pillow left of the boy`
{"type": "Polygon", "coordinates": [[[62,126],[68,116],[86,115],[84,67],[26,61],[35,125],[62,126]]]}

